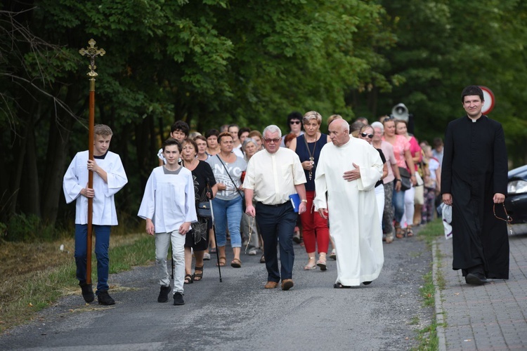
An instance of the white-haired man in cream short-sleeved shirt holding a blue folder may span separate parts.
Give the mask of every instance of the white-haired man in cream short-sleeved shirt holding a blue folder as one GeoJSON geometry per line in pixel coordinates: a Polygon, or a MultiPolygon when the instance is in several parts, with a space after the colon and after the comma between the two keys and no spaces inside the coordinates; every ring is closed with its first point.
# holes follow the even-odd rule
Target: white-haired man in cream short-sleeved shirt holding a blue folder
{"type": "Polygon", "coordinates": [[[300,213],[306,211],[306,176],[296,152],[280,147],[282,132],[275,125],[263,130],[265,150],[256,152],[249,160],[243,187],[249,216],[256,216],[263,238],[264,256],[268,273],[266,289],[274,289],[282,279],[282,290],[294,286],[293,232],[300,213]],[[294,211],[289,195],[299,194],[298,213],[294,211]],[[256,200],[256,208],[252,199],[256,200]],[[280,263],[276,245],[280,241],[280,263]]]}

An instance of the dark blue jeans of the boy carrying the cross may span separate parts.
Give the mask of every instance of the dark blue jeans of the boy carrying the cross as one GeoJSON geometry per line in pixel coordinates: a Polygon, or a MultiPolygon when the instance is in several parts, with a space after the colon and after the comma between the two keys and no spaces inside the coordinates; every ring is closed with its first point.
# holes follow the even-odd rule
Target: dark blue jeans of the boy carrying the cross
{"type": "MultiPolygon", "coordinates": [[[[108,290],[108,247],[110,246],[110,225],[93,225],[95,231],[95,256],[97,258],[97,292],[108,290]]],[[[75,263],[77,264],[77,279],[86,282],[86,256],[88,253],[88,225],[75,225],[75,263]]]]}

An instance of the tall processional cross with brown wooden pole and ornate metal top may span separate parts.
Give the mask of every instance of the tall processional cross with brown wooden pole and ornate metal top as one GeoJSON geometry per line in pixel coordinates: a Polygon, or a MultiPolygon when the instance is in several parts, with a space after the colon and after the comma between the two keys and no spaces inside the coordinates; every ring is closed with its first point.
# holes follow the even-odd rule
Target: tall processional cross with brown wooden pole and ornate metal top
{"type": "MultiPolygon", "coordinates": [[[[88,135],[88,152],[89,152],[89,159],[93,160],[93,125],[95,124],[95,77],[98,76],[98,74],[95,72],[95,69],[97,66],[95,65],[95,57],[96,56],[103,56],[106,51],[104,49],[98,49],[95,44],[95,40],[90,39],[88,41],[88,44],[90,44],[87,48],[82,48],[79,50],[79,53],[81,55],[86,55],[90,59],[90,65],[88,68],[90,69],[90,72],[87,73],[87,75],[90,77],[90,113],[89,113],[89,135],[88,135]]],[[[93,189],[93,172],[88,171],[88,187],[90,189],[93,189]]],[[[93,198],[88,198],[88,235],[87,235],[87,251],[86,251],[86,284],[91,284],[91,232],[92,229],[92,222],[93,219],[93,198]]]]}

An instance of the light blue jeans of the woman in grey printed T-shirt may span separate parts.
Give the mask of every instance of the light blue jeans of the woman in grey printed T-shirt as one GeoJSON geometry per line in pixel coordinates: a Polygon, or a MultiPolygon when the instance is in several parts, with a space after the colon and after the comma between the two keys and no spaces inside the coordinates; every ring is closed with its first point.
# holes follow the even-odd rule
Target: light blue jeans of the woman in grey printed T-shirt
{"type": "Polygon", "coordinates": [[[240,223],[242,221],[242,197],[232,200],[212,200],[214,211],[214,225],[216,227],[216,246],[226,246],[227,225],[230,233],[230,246],[242,247],[240,223]]]}

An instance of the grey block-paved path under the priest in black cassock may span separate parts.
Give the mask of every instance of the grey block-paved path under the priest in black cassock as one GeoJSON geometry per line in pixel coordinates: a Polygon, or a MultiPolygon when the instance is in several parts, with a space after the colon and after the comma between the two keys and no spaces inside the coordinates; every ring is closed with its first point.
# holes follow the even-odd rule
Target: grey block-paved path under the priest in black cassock
{"type": "Polygon", "coordinates": [[[446,324],[438,329],[440,350],[527,350],[527,235],[509,244],[509,280],[471,286],[452,270],[452,241],[436,241],[434,267],[445,279],[436,293],[438,324],[446,324]]]}

